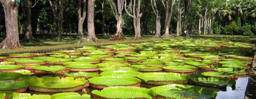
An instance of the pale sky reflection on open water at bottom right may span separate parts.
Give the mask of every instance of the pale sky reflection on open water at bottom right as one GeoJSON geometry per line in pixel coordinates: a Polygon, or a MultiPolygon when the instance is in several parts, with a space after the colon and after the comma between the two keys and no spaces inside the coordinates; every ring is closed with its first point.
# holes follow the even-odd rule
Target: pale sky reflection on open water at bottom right
{"type": "Polygon", "coordinates": [[[216,99],[244,99],[248,79],[249,77],[238,77],[236,90],[227,87],[227,91],[218,91],[216,99]]]}

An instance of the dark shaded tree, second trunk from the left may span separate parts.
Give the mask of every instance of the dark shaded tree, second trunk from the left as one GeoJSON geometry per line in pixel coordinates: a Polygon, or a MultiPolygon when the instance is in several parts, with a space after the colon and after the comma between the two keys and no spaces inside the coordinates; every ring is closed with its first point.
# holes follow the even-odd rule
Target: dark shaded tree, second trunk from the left
{"type": "Polygon", "coordinates": [[[25,18],[25,37],[23,38],[23,42],[33,42],[34,37],[32,35],[32,25],[31,25],[31,8],[35,7],[39,0],[35,0],[34,5],[31,5],[30,0],[22,0],[22,14],[25,18]]]}

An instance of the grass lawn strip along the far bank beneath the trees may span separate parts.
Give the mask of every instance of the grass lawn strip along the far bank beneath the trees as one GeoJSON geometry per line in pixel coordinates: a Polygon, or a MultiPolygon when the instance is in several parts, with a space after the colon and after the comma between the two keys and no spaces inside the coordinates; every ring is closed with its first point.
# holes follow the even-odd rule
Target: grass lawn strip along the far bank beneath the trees
{"type": "MultiPolygon", "coordinates": [[[[133,40],[132,35],[126,35],[124,41],[108,41],[109,37],[101,37],[98,36],[100,42],[85,42],[85,43],[76,43],[79,40],[76,39],[76,35],[63,35],[63,38],[67,41],[53,41],[55,35],[40,35],[37,40],[40,42],[33,42],[33,43],[21,43],[24,47],[18,49],[0,49],[0,55],[3,53],[19,53],[25,51],[35,51],[35,50],[49,50],[49,49],[60,49],[60,48],[68,48],[68,47],[82,47],[82,46],[97,46],[97,45],[106,45],[106,44],[113,44],[113,43],[136,43],[136,42],[150,42],[150,41],[158,41],[163,39],[177,39],[177,38],[184,38],[183,36],[176,37],[176,38],[151,38],[152,35],[143,35],[146,39],[141,40],[133,40]]],[[[189,37],[192,39],[196,38],[205,38],[205,39],[232,39],[233,42],[248,42],[248,43],[256,43],[255,37],[248,37],[242,35],[192,35],[189,37]]],[[[3,38],[0,38],[3,40],[3,38]]]]}

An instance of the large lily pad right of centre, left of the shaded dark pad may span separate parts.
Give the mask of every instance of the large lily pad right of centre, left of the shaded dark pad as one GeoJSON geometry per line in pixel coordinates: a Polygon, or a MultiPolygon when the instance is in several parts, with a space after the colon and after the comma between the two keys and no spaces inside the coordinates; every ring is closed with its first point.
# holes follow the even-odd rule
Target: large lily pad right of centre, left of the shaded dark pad
{"type": "Polygon", "coordinates": [[[166,85],[166,84],[187,84],[191,76],[180,73],[142,73],[138,78],[143,83],[153,85],[166,85]]]}

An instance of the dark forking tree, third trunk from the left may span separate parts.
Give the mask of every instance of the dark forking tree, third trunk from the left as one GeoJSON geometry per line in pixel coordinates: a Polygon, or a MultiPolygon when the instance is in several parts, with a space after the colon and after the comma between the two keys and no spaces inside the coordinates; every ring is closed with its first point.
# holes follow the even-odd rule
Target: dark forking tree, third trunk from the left
{"type": "Polygon", "coordinates": [[[57,37],[55,38],[56,41],[64,41],[62,38],[62,20],[63,20],[63,3],[64,0],[48,0],[50,6],[52,8],[54,20],[57,22],[57,37]],[[59,8],[59,11],[58,11],[59,8]]]}

